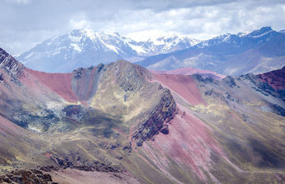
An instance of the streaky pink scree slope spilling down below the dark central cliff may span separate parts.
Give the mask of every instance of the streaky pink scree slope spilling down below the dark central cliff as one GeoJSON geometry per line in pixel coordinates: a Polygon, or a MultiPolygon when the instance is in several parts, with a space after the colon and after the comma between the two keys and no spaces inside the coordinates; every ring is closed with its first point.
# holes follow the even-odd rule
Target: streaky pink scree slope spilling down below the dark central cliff
{"type": "MultiPolygon", "coordinates": [[[[171,121],[169,134],[160,133],[155,136],[154,141],[144,144],[145,153],[150,155],[150,159],[165,174],[170,169],[168,155],[181,167],[187,166],[200,179],[207,180],[201,168],[209,170],[212,153],[225,158],[224,153],[204,122],[192,115],[187,108],[179,104],[177,107],[180,110],[171,121]]],[[[210,177],[216,180],[211,174],[210,177]]]]}

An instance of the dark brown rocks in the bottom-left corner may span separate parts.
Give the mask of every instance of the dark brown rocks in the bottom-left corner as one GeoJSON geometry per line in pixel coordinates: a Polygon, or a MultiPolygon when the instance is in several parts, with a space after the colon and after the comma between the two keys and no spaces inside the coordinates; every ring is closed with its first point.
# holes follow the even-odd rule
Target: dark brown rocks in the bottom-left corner
{"type": "Polygon", "coordinates": [[[44,174],[37,169],[19,169],[13,170],[11,173],[0,176],[0,183],[42,183],[56,184],[51,179],[51,175],[44,174]]]}

